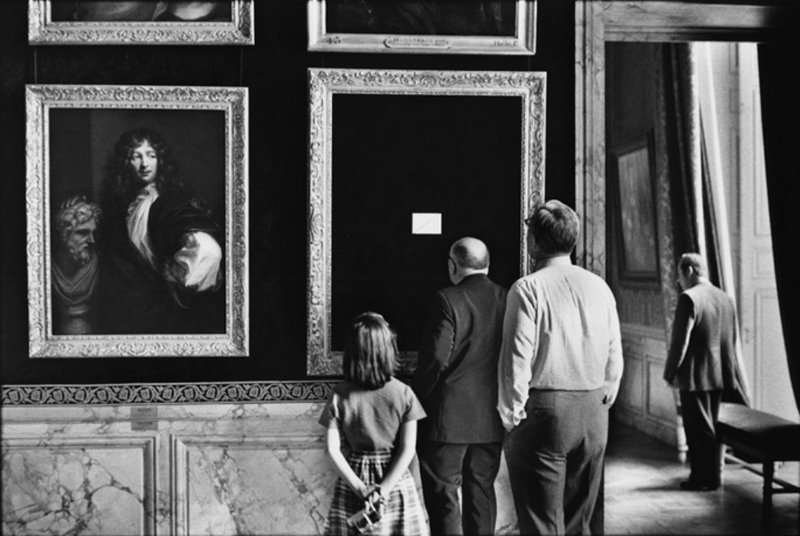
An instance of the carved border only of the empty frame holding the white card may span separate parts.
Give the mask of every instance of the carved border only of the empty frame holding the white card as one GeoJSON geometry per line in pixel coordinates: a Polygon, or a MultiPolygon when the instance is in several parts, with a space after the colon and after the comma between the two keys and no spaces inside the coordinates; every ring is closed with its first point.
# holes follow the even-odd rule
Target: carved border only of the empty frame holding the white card
{"type": "MultiPolygon", "coordinates": [[[[519,271],[530,271],[522,221],[544,199],[543,72],[309,69],[307,362],[309,376],[339,376],[342,352],[331,348],[333,95],[471,95],[520,99],[519,271]]],[[[401,355],[409,371],[414,355],[401,355]]]]}

